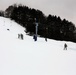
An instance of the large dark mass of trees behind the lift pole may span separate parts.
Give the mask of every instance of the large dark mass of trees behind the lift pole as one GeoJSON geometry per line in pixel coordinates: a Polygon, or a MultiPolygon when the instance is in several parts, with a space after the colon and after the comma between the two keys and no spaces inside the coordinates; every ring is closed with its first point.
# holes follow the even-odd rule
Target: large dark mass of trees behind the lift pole
{"type": "Polygon", "coordinates": [[[76,42],[75,25],[66,19],[62,20],[60,16],[51,14],[45,16],[38,9],[14,4],[5,10],[5,17],[25,27],[29,35],[35,34],[35,23],[37,22],[40,37],[76,42]]]}

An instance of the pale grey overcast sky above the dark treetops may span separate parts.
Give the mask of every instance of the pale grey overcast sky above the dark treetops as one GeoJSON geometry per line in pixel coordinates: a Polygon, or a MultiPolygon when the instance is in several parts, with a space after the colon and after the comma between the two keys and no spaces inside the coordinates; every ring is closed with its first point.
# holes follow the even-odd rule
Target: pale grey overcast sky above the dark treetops
{"type": "Polygon", "coordinates": [[[0,0],[0,10],[5,10],[14,3],[39,9],[45,15],[60,16],[76,25],[76,0],[0,0]]]}

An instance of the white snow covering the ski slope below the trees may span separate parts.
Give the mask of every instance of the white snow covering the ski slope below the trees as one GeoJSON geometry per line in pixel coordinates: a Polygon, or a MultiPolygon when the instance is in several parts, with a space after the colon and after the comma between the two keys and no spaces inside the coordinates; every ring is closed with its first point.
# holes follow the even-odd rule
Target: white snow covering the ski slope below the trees
{"type": "Polygon", "coordinates": [[[0,17],[0,75],[76,75],[76,43],[26,35],[25,28],[0,17]],[[9,30],[7,30],[9,29],[9,30]],[[24,40],[18,39],[18,34],[24,40]],[[67,43],[68,50],[63,50],[67,43]]]}

